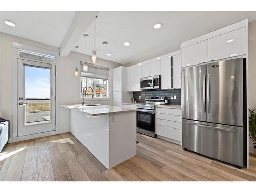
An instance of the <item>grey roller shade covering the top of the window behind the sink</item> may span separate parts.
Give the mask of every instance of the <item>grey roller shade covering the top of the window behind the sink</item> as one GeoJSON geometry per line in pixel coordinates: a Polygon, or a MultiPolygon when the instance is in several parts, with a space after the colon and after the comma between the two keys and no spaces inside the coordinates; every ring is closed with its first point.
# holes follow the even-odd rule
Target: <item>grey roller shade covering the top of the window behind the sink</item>
{"type": "Polygon", "coordinates": [[[109,68],[87,63],[87,71],[84,71],[84,62],[81,61],[81,77],[89,77],[95,79],[109,79],[109,68]]]}

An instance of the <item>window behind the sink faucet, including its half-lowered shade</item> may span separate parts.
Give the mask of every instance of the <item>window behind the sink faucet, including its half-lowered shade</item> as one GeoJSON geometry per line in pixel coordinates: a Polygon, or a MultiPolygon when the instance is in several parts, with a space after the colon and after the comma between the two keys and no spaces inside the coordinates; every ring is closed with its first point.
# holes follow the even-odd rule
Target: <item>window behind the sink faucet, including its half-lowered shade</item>
{"type": "Polygon", "coordinates": [[[82,90],[87,86],[91,87],[93,91],[90,88],[86,88],[85,98],[92,98],[92,94],[94,94],[94,98],[109,98],[109,68],[91,63],[87,63],[88,66],[84,68],[84,65],[84,62],[81,62],[81,98],[82,90]],[[86,71],[83,69],[86,69],[86,71]]]}

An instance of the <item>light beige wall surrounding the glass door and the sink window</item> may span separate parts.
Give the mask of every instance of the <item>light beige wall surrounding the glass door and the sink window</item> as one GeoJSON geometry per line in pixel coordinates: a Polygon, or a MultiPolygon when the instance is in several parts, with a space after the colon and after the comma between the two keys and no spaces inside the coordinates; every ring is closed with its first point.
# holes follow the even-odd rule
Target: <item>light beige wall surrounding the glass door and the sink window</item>
{"type": "MultiPolygon", "coordinates": [[[[42,49],[59,52],[59,48],[49,45],[41,44],[39,42],[20,38],[0,32],[0,117],[10,120],[12,127],[12,42],[19,42],[20,44],[30,45],[42,49]]],[[[75,67],[79,68],[79,60],[83,59],[85,55],[71,52],[68,57],[60,57],[59,72],[59,103],[81,103],[80,99],[80,80],[78,76],[74,75],[75,67]]],[[[90,57],[88,56],[88,60],[90,57]]],[[[118,63],[98,59],[98,65],[107,66],[111,69],[119,67],[118,63]]],[[[110,70],[110,81],[112,86],[112,70],[110,70]]],[[[112,87],[110,88],[110,93],[112,87]]],[[[57,93],[58,94],[58,93],[57,93]]],[[[88,101],[94,103],[111,104],[112,100],[105,101],[88,101]]],[[[59,106],[57,106],[59,107],[59,106]]],[[[69,118],[67,112],[60,107],[60,129],[69,129],[69,118]]],[[[12,137],[12,128],[10,131],[12,137]]]]}

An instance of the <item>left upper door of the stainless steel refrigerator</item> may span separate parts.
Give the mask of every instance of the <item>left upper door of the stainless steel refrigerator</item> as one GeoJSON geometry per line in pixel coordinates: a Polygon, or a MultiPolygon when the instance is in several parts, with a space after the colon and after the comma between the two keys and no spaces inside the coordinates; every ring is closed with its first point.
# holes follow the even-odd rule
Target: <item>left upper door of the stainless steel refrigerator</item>
{"type": "Polygon", "coordinates": [[[206,65],[182,70],[182,118],[206,121],[206,65]]]}

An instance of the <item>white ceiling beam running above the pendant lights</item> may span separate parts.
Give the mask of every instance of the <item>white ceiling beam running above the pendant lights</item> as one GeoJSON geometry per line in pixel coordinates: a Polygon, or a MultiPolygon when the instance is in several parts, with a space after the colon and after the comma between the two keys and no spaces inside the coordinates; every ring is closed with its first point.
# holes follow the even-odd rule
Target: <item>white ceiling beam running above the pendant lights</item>
{"type": "Polygon", "coordinates": [[[60,56],[67,57],[99,11],[77,11],[60,46],[60,56]]]}

